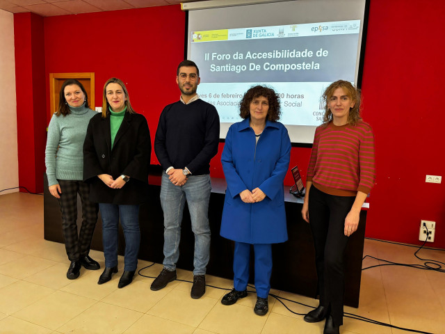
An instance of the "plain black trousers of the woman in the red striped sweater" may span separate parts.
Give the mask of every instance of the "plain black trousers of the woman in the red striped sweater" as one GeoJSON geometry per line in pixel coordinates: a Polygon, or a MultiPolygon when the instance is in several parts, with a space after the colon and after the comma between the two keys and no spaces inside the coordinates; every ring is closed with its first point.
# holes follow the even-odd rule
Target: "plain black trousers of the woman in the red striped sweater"
{"type": "Polygon", "coordinates": [[[343,324],[343,262],[349,240],[344,226],[354,201],[355,196],[329,195],[314,185],[309,191],[309,222],[314,236],[320,305],[330,312],[335,326],[343,324]]]}

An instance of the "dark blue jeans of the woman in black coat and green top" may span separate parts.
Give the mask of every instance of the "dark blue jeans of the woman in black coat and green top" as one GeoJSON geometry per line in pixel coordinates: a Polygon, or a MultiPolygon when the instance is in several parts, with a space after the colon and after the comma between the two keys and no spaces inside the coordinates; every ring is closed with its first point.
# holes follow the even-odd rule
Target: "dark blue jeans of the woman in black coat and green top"
{"type": "Polygon", "coordinates": [[[120,217],[125,237],[124,271],[135,271],[136,267],[138,267],[140,244],[139,205],[99,203],[99,209],[102,216],[105,267],[113,268],[118,265],[118,226],[120,217]]]}

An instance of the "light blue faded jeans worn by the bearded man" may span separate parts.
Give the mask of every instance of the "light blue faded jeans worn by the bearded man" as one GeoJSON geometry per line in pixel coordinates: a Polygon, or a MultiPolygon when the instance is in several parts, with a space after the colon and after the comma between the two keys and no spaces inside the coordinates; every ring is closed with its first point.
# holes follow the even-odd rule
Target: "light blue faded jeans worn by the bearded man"
{"type": "Polygon", "coordinates": [[[181,221],[187,200],[188,211],[195,233],[193,275],[204,275],[210,257],[209,199],[210,175],[189,175],[184,186],[175,186],[168,175],[162,174],[161,206],[164,212],[164,261],[170,271],[176,269],[181,240],[181,221]]]}

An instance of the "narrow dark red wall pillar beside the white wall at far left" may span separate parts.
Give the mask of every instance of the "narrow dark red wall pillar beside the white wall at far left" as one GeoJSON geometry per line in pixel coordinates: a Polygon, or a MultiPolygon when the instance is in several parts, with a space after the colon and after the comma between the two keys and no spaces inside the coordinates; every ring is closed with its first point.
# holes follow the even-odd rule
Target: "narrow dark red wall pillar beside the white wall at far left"
{"type": "Polygon", "coordinates": [[[14,15],[19,185],[43,191],[46,145],[43,17],[14,15]]]}

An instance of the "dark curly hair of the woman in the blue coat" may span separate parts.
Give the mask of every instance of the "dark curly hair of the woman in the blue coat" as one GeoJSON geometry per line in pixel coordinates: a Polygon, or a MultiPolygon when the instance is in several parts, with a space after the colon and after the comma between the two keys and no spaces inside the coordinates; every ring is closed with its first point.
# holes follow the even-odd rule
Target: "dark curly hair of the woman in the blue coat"
{"type": "Polygon", "coordinates": [[[254,86],[245,92],[243,99],[239,102],[239,116],[246,119],[250,117],[250,102],[256,97],[264,96],[269,102],[267,119],[276,122],[281,116],[280,97],[275,90],[266,86],[254,86]]]}

